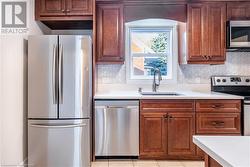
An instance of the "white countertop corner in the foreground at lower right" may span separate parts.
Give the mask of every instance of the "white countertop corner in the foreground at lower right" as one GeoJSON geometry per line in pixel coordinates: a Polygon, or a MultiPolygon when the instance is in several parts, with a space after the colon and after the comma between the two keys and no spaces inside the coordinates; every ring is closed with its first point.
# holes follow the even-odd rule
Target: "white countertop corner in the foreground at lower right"
{"type": "Polygon", "coordinates": [[[194,136],[193,142],[224,167],[250,167],[250,136],[194,136]]]}

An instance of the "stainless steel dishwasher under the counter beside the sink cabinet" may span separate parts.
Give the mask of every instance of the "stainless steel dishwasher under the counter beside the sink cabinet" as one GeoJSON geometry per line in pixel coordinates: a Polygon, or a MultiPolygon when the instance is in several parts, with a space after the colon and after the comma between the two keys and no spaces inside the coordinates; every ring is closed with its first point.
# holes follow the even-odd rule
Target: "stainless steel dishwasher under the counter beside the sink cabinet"
{"type": "Polygon", "coordinates": [[[95,156],[139,156],[139,101],[95,101],[95,156]]]}

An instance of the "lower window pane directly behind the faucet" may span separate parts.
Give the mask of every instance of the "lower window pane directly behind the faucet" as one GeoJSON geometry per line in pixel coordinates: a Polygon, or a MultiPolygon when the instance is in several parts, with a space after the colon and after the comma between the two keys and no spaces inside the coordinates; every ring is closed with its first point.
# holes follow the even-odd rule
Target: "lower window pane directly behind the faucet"
{"type": "Polygon", "coordinates": [[[162,76],[167,76],[167,57],[133,57],[133,76],[147,78],[154,75],[154,68],[161,71],[162,76]]]}

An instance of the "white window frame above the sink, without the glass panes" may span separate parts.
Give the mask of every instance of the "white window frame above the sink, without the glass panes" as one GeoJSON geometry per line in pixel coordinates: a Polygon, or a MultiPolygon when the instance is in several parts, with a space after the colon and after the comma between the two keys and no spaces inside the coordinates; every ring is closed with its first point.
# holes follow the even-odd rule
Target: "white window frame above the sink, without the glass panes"
{"type": "MultiPolygon", "coordinates": [[[[161,83],[177,83],[177,63],[178,63],[178,35],[177,35],[177,22],[166,19],[146,19],[139,20],[134,22],[129,22],[125,24],[126,27],[126,44],[125,44],[125,61],[126,61],[126,81],[127,83],[134,84],[152,84],[153,76],[145,78],[145,76],[134,76],[133,75],[133,63],[132,63],[132,53],[131,53],[131,32],[132,30],[143,30],[143,29],[166,29],[170,31],[171,42],[170,42],[170,53],[168,56],[168,62],[171,62],[167,65],[167,76],[163,76],[163,80],[161,83]],[[172,53],[172,54],[171,54],[172,53]]],[[[164,31],[163,31],[164,32],[164,31]]],[[[143,53],[136,53],[138,56],[145,57],[143,53]],[[141,54],[141,55],[140,55],[141,54]]],[[[148,56],[159,55],[161,53],[156,54],[146,54],[148,56]]],[[[165,54],[164,54],[165,55],[165,54]]],[[[159,57],[159,56],[157,56],[159,57]]]]}

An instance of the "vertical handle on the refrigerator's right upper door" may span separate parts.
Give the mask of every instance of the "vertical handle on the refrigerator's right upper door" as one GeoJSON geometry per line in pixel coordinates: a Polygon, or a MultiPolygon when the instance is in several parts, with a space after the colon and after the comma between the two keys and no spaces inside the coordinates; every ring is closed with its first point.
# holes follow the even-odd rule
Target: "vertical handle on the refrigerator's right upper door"
{"type": "Polygon", "coordinates": [[[63,104],[63,45],[59,45],[59,104],[63,104]]]}

